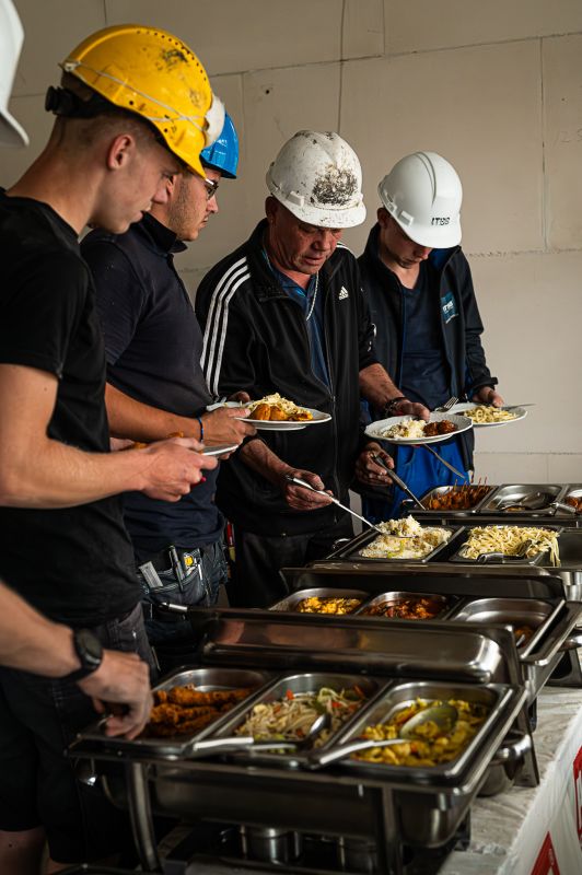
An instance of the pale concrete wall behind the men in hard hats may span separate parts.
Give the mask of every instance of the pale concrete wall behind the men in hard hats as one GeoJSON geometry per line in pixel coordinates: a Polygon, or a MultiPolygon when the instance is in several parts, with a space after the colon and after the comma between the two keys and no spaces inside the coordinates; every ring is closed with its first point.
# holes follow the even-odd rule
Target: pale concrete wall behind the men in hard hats
{"type": "Polygon", "coordinates": [[[477,434],[491,482],[582,480],[582,3],[580,0],[15,0],[26,40],[12,109],[27,151],[2,150],[10,184],[40,150],[56,62],[125,21],[175,32],[202,59],[242,140],[221,214],[181,256],[200,277],[261,217],[265,171],[301,128],[338,130],[364,170],[365,225],[401,155],[441,152],[464,185],[463,246],[491,370],[527,419],[477,434]]]}

